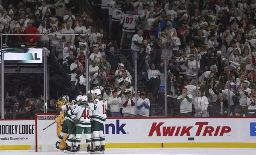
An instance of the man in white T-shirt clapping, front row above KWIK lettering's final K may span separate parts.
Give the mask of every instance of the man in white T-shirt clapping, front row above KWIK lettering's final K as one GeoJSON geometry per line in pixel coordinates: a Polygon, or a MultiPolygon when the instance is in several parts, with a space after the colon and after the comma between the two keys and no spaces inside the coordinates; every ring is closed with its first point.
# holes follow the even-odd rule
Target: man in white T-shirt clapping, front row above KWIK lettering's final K
{"type": "Polygon", "coordinates": [[[180,116],[191,117],[192,113],[192,95],[188,94],[188,89],[182,89],[182,95],[178,96],[177,103],[180,104],[180,116]]]}

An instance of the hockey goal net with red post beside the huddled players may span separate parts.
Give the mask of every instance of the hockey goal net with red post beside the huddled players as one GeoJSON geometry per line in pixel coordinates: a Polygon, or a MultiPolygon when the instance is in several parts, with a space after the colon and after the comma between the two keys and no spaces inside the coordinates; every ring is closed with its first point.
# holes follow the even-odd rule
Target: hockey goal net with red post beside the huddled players
{"type": "MultiPolygon", "coordinates": [[[[60,125],[54,122],[58,116],[58,113],[37,113],[35,115],[35,145],[31,146],[31,151],[37,152],[57,150],[55,144],[58,138],[58,129],[60,125]],[[47,127],[48,125],[50,126],[47,127]],[[45,129],[46,127],[47,129],[45,129]]],[[[80,150],[86,150],[86,141],[84,135],[81,137],[80,150]]]]}

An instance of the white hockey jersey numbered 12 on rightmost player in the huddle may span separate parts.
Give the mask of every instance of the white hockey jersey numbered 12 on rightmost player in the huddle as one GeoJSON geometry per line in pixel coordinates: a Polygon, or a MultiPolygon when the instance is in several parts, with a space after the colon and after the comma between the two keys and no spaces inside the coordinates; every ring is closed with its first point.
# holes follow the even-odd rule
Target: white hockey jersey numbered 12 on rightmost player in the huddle
{"type": "Polygon", "coordinates": [[[93,104],[90,104],[90,108],[93,110],[93,114],[91,115],[92,121],[98,121],[105,124],[107,118],[107,104],[107,100],[103,98],[96,98],[93,100],[93,104]]]}

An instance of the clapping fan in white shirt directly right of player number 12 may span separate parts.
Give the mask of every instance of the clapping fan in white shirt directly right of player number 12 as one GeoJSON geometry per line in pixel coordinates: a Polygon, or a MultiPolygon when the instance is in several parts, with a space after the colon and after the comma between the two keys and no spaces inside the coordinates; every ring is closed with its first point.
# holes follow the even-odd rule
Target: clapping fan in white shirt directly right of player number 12
{"type": "Polygon", "coordinates": [[[108,99],[108,107],[110,107],[111,117],[121,117],[120,104],[122,104],[122,99],[117,95],[117,90],[112,91],[112,97],[108,99]]]}

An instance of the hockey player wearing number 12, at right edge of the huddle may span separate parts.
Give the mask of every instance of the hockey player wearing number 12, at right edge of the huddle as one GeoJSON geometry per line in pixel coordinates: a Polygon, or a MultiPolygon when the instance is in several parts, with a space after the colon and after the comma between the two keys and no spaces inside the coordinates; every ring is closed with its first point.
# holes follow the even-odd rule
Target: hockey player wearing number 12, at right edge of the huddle
{"type": "Polygon", "coordinates": [[[107,101],[101,98],[101,90],[95,89],[93,91],[93,114],[92,121],[92,142],[93,149],[90,150],[91,154],[104,153],[105,151],[105,136],[103,134],[104,124],[107,118],[107,101]],[[101,147],[99,147],[101,145],[101,147]]]}

